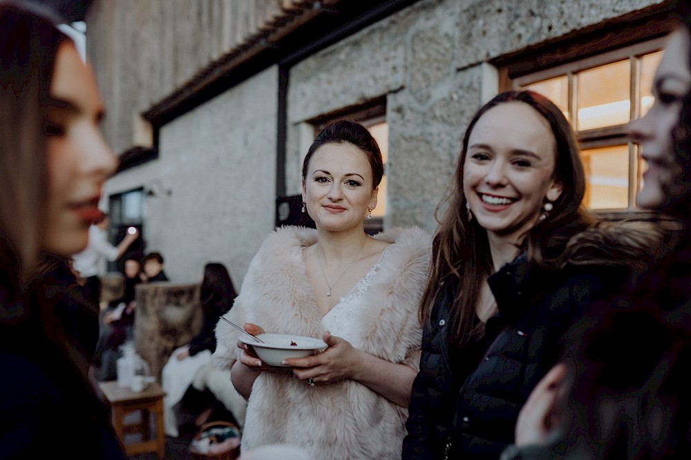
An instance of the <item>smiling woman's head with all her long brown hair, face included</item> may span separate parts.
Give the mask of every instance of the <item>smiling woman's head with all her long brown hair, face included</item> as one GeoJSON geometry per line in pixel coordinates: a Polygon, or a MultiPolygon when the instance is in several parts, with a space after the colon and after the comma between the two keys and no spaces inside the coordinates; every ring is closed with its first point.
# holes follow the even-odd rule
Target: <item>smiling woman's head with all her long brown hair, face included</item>
{"type": "MultiPolygon", "coordinates": [[[[457,343],[482,325],[475,305],[495,270],[493,248],[513,245],[530,260],[557,265],[567,240],[591,223],[583,208],[585,172],[574,132],[560,109],[529,90],[500,93],[471,119],[433,243],[421,318],[456,279],[457,343]]],[[[501,262],[501,261],[500,261],[501,262]]]]}

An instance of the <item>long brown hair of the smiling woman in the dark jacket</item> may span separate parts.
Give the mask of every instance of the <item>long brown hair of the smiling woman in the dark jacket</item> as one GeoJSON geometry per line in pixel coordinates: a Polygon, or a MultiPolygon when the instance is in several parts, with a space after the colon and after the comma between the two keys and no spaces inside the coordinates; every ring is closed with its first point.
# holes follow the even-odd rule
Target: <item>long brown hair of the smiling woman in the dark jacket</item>
{"type": "Polygon", "coordinates": [[[435,211],[439,228],[433,241],[432,267],[420,309],[421,320],[428,321],[442,284],[454,283],[457,289],[451,319],[457,345],[464,345],[482,331],[482,325],[475,320],[475,304],[482,281],[493,272],[487,232],[476,221],[468,220],[466,213],[463,166],[468,139],[484,113],[507,102],[528,104],[549,122],[556,140],[554,179],[563,186],[561,195],[552,203],[549,217],[528,231],[520,249],[527,253],[529,260],[557,265],[569,238],[592,222],[582,206],[585,172],[580,151],[574,131],[560,109],[547,97],[529,90],[500,93],[480,108],[468,125],[453,180],[435,211]],[[442,209],[445,209],[443,217],[439,219],[442,209]]]}

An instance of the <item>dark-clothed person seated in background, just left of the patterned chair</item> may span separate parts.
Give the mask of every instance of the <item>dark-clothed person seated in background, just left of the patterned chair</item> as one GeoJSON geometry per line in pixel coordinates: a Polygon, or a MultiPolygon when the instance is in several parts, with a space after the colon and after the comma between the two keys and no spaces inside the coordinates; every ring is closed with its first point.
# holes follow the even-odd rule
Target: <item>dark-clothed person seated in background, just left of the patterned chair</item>
{"type": "Polygon", "coordinates": [[[140,263],[135,258],[124,262],[124,292],[122,297],[113,300],[104,311],[100,323],[98,344],[94,356],[94,365],[100,367],[98,380],[113,380],[115,361],[120,358],[119,347],[132,338],[135,314],[135,287],[140,279],[140,263]]]}

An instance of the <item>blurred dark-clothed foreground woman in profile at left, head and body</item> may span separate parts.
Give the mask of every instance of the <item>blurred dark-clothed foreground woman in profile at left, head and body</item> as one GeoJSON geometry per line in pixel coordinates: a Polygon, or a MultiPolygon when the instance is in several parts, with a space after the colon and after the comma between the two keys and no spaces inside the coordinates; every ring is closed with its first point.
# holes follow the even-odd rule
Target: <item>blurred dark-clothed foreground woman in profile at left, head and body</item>
{"type": "Polygon", "coordinates": [[[0,3],[0,452],[122,459],[88,356],[39,276],[41,253],[86,247],[117,160],[91,68],[28,8],[0,3]]]}

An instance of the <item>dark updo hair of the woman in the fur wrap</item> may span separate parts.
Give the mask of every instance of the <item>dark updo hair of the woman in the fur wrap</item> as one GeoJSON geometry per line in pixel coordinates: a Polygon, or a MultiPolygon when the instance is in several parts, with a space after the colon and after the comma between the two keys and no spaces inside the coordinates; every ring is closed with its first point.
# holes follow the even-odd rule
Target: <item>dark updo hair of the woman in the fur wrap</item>
{"type": "Polygon", "coordinates": [[[384,162],[381,160],[379,144],[367,131],[367,128],[347,119],[328,124],[321,130],[321,133],[316,135],[303,161],[303,180],[307,178],[307,166],[310,164],[312,155],[325,144],[350,144],[359,148],[366,155],[367,161],[372,167],[372,189],[379,186],[379,182],[384,176],[384,162]]]}

